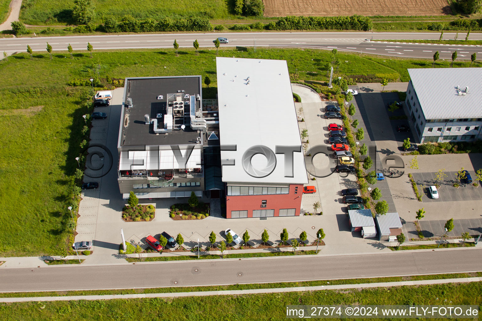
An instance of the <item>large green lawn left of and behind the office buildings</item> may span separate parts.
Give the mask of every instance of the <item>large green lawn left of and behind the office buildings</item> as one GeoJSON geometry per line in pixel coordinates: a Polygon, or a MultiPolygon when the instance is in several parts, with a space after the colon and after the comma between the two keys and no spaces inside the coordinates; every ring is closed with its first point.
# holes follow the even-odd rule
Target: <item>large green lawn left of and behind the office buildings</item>
{"type": "MultiPolygon", "coordinates": [[[[284,59],[290,70],[299,62],[300,79],[326,80],[330,51],[257,48],[253,52],[220,50],[226,57],[284,59]]],[[[96,52],[19,53],[0,62],[0,256],[58,255],[72,236],[68,230],[70,191],[79,156],[82,115],[81,97],[89,88],[70,87],[73,78],[202,75],[211,79],[203,88],[205,99],[215,98],[214,48],[96,52]],[[35,245],[35,246],[34,246],[35,245]]],[[[431,60],[377,57],[338,52],[341,75],[397,74],[408,81],[406,68],[431,66],[431,60]]],[[[456,61],[454,67],[469,66],[456,61]]],[[[476,63],[475,65],[479,65],[476,63]]],[[[437,67],[448,67],[440,61],[437,67]]],[[[338,75],[336,75],[338,76],[338,75]]],[[[359,77],[359,76],[353,76],[359,77]]],[[[326,87],[325,87],[326,88],[326,87]]]]}

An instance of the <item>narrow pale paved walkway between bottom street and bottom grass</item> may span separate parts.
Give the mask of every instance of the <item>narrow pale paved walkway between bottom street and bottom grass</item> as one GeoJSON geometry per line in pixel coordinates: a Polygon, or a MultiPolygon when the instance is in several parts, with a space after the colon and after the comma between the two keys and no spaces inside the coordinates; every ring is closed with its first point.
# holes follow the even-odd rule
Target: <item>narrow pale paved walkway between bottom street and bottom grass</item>
{"type": "Polygon", "coordinates": [[[425,284],[446,284],[446,283],[469,283],[481,282],[482,278],[457,278],[440,280],[421,280],[421,281],[400,281],[400,282],[376,282],[361,284],[337,284],[320,286],[297,286],[290,288],[274,289],[250,289],[250,290],[225,290],[225,291],[196,291],[178,293],[143,293],[143,294],[122,294],[122,295],[69,295],[69,296],[35,296],[35,297],[2,297],[0,302],[45,302],[45,301],[70,301],[70,300],[111,300],[111,299],[139,299],[151,297],[186,297],[186,296],[210,296],[210,295],[247,295],[261,293],[283,293],[283,292],[305,292],[323,290],[343,290],[343,289],[368,289],[390,286],[425,285],[425,284]]]}

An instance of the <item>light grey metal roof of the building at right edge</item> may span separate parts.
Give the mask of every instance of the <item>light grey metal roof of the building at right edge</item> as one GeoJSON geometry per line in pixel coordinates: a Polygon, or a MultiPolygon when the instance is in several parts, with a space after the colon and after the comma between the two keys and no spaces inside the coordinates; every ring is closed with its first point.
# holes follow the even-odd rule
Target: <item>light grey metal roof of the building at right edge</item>
{"type": "Polygon", "coordinates": [[[408,73],[425,119],[482,117],[482,68],[417,68],[408,73]]]}

